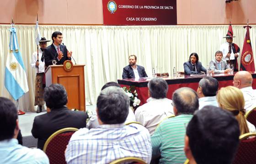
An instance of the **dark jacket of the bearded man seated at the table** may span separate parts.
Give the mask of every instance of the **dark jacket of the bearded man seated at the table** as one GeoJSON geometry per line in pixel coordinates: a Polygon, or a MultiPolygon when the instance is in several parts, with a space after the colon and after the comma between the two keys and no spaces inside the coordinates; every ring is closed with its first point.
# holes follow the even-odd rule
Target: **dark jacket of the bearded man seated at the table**
{"type": "MultiPolygon", "coordinates": [[[[148,77],[147,73],[145,72],[145,68],[142,66],[137,65],[137,70],[139,72],[139,77],[148,77]]],[[[123,68],[123,79],[125,78],[135,78],[132,66],[128,65],[123,68]]]]}

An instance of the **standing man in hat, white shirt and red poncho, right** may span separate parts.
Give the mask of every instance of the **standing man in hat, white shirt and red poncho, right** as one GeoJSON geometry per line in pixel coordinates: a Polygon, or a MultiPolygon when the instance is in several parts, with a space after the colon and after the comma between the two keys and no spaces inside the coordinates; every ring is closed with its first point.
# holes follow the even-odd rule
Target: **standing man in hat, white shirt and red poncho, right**
{"type": "Polygon", "coordinates": [[[226,42],[220,46],[220,51],[223,52],[223,60],[226,60],[228,64],[232,67],[234,66],[234,71],[238,71],[237,57],[239,56],[240,48],[235,43],[233,43],[233,30],[232,26],[229,25],[228,33],[225,37],[226,42]]]}

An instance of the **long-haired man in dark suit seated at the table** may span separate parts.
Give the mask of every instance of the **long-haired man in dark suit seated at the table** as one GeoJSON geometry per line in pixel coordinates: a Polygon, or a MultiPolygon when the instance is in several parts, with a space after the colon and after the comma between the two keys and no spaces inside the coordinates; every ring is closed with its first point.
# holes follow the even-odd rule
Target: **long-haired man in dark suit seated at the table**
{"type": "Polygon", "coordinates": [[[184,62],[183,67],[185,75],[198,74],[201,72],[206,73],[206,69],[202,66],[202,63],[199,62],[197,53],[190,54],[188,62],[184,62]]]}

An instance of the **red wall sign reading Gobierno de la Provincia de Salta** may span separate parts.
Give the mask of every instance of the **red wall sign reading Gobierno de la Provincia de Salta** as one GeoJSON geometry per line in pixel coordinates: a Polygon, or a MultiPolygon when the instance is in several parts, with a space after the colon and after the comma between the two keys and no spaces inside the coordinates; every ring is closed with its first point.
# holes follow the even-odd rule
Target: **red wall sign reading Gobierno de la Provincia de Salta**
{"type": "Polygon", "coordinates": [[[176,25],[176,0],[102,0],[104,25],[176,25]]]}

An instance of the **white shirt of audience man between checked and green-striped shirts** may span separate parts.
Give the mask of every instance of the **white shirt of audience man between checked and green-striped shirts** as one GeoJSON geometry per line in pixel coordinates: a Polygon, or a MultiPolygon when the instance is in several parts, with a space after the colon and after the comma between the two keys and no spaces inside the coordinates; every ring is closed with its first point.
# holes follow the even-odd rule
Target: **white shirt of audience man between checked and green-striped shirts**
{"type": "Polygon", "coordinates": [[[172,100],[168,98],[155,99],[149,97],[147,103],[135,110],[136,121],[141,123],[153,135],[155,128],[164,118],[172,115],[172,100]]]}

